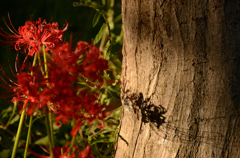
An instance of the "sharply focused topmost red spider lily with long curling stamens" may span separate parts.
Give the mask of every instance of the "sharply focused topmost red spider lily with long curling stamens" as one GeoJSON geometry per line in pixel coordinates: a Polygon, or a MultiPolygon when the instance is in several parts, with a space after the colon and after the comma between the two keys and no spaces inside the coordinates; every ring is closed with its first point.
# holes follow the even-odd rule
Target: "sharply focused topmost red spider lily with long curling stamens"
{"type": "Polygon", "coordinates": [[[68,28],[68,22],[64,29],[58,29],[58,23],[47,23],[46,20],[39,18],[37,21],[26,21],[24,26],[19,27],[18,31],[13,27],[10,17],[11,29],[4,20],[8,29],[13,33],[9,34],[5,31],[0,32],[0,36],[7,39],[3,43],[14,45],[19,51],[22,47],[28,55],[33,56],[34,53],[40,52],[43,45],[46,51],[52,50],[56,44],[62,41],[63,32],[68,28]]]}

